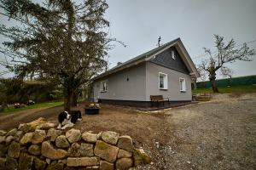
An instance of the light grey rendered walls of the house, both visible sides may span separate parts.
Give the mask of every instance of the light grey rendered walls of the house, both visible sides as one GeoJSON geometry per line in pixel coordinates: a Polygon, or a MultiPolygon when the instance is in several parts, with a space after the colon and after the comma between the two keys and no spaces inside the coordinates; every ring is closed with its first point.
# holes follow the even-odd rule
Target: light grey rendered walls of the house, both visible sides
{"type": "Polygon", "coordinates": [[[94,82],[94,99],[150,101],[150,95],[163,95],[171,101],[191,100],[191,77],[166,67],[146,62],[119,71],[94,82]],[[159,72],[168,75],[168,89],[159,89],[159,72]],[[179,78],[185,78],[186,92],[180,92],[179,78]],[[126,79],[129,78],[129,81],[126,79]],[[108,81],[108,91],[100,92],[101,81],[108,81]]]}

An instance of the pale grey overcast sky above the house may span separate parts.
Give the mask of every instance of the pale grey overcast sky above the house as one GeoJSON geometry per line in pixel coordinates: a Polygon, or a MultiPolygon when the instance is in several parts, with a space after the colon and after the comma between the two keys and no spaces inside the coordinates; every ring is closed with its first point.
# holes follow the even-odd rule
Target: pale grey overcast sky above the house
{"type": "MultiPolygon", "coordinates": [[[[213,51],[213,34],[234,38],[237,44],[256,40],[256,0],[107,0],[106,14],[110,36],[125,42],[109,52],[110,68],[117,62],[143,54],[161,43],[180,37],[195,64],[206,56],[203,47],[213,51]]],[[[6,22],[0,16],[1,24],[6,22]]],[[[256,49],[256,42],[248,44],[256,49]]],[[[3,57],[3,54],[0,54],[3,57]]],[[[252,62],[230,65],[234,76],[256,74],[252,62]]],[[[3,67],[0,67],[3,70],[3,67]]]]}

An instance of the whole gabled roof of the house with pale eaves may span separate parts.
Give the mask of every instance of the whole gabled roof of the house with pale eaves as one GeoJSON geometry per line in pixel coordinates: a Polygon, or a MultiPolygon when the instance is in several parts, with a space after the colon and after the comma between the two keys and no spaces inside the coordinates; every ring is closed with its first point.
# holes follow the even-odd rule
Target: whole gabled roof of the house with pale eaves
{"type": "Polygon", "coordinates": [[[114,72],[117,71],[121,71],[124,70],[125,68],[129,68],[132,65],[137,65],[140,64],[144,61],[150,60],[150,59],[154,59],[154,57],[157,54],[160,54],[161,52],[165,51],[167,48],[170,48],[172,46],[175,46],[177,48],[178,53],[181,55],[183,62],[185,63],[185,65],[188,67],[189,73],[192,77],[200,77],[198,71],[195,68],[195,65],[192,61],[192,59],[190,58],[186,48],[184,48],[183,46],[183,42],[181,41],[181,39],[178,37],[175,40],[172,40],[171,42],[167,42],[164,45],[161,45],[158,48],[154,48],[144,54],[140,54],[135,58],[129,59],[127,61],[125,61],[124,63],[121,63],[119,65],[114,66],[113,68],[111,68],[110,70],[103,72],[101,75],[94,77],[93,80],[108,76],[110,74],[113,74],[114,72]]]}

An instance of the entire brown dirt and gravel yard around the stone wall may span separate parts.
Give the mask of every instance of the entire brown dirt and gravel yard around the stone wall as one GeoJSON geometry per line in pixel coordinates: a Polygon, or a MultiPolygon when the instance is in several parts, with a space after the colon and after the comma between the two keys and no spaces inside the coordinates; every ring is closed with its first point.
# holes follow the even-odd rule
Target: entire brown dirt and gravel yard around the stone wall
{"type": "MultiPolygon", "coordinates": [[[[218,94],[210,102],[143,112],[102,105],[100,115],[84,115],[75,128],[128,134],[153,164],[132,169],[256,169],[256,94],[218,94]]],[[[0,116],[0,128],[17,127],[39,116],[51,122],[61,107],[0,116]],[[4,122],[3,122],[4,121],[4,122]]]]}

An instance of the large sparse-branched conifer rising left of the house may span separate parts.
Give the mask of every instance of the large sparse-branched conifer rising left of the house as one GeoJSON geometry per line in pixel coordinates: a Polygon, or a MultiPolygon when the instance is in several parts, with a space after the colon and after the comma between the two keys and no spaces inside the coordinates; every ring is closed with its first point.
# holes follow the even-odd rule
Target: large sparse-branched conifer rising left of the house
{"type": "Polygon", "coordinates": [[[0,0],[3,15],[20,22],[19,26],[0,26],[0,34],[9,37],[1,52],[9,59],[0,63],[18,77],[37,77],[61,84],[64,107],[75,105],[79,87],[90,83],[108,66],[108,37],[105,0],[0,0]]]}

